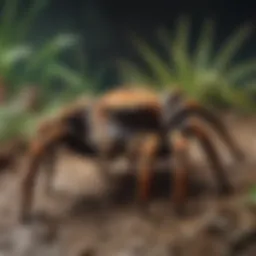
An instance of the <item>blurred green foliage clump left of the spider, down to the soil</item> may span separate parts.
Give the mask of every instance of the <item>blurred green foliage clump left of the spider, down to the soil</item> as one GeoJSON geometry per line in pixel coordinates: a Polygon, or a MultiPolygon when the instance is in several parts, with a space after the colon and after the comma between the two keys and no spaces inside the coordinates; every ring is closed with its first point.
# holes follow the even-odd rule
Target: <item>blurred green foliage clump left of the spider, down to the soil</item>
{"type": "Polygon", "coordinates": [[[57,33],[38,45],[29,42],[37,17],[47,11],[49,1],[32,0],[24,13],[20,12],[20,3],[5,0],[0,10],[0,77],[8,92],[0,106],[1,141],[15,136],[29,138],[42,117],[81,93],[92,94],[97,89],[97,82],[89,76],[86,62],[78,52],[77,35],[57,33]],[[79,70],[64,61],[68,54],[79,56],[79,70]],[[36,112],[26,109],[21,93],[31,86],[39,89],[42,103],[36,112]]]}

